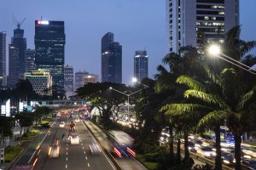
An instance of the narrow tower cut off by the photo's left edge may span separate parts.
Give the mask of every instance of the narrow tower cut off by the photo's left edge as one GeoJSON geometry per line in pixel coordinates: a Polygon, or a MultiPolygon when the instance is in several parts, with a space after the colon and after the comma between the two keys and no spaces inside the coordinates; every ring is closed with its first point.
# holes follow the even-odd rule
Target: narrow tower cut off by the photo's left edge
{"type": "Polygon", "coordinates": [[[6,32],[0,32],[0,87],[6,86],[6,32]]]}

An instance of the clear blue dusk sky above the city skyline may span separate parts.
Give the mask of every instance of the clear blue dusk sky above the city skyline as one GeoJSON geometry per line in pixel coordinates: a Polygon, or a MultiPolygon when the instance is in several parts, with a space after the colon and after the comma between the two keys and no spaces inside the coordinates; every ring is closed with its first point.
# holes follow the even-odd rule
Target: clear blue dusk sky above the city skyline
{"type": "MultiPolygon", "coordinates": [[[[240,1],[241,39],[256,40],[256,0],[240,1]]],[[[88,71],[101,77],[101,39],[111,31],[123,46],[123,82],[131,83],[133,56],[146,49],[148,76],[168,53],[166,0],[1,0],[0,31],[11,41],[15,24],[23,20],[27,48],[34,48],[34,20],[64,20],[66,33],[65,64],[74,71],[88,71]]],[[[256,55],[256,50],[253,50],[256,55]]]]}

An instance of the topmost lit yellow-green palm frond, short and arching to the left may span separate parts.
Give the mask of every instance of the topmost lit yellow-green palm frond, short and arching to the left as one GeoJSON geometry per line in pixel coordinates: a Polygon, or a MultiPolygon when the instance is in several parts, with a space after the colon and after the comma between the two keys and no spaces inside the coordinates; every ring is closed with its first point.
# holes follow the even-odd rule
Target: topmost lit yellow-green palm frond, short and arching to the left
{"type": "Polygon", "coordinates": [[[189,88],[193,88],[195,90],[199,90],[199,91],[206,90],[204,85],[202,85],[200,82],[197,82],[195,79],[188,77],[188,76],[177,77],[176,82],[179,84],[185,84],[185,85],[189,86],[189,88]]]}

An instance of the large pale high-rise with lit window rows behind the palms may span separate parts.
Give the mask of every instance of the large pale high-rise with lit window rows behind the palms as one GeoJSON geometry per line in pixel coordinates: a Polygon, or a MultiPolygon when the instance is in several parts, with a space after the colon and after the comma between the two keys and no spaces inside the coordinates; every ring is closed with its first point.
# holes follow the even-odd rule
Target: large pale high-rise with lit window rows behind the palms
{"type": "Polygon", "coordinates": [[[239,25],[239,0],[166,0],[169,49],[198,47],[203,32],[208,42],[224,42],[224,33],[239,25]]]}

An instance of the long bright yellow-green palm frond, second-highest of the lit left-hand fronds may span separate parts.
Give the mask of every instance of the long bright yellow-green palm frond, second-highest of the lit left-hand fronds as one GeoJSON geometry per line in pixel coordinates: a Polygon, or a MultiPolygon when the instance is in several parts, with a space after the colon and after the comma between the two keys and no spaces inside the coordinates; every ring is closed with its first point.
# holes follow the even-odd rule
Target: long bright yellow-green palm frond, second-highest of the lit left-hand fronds
{"type": "Polygon", "coordinates": [[[218,95],[215,94],[207,94],[205,92],[197,91],[197,90],[187,90],[184,93],[185,98],[194,97],[196,99],[201,99],[207,104],[215,104],[224,110],[230,110],[229,105],[226,105],[223,99],[221,99],[218,95]]]}

